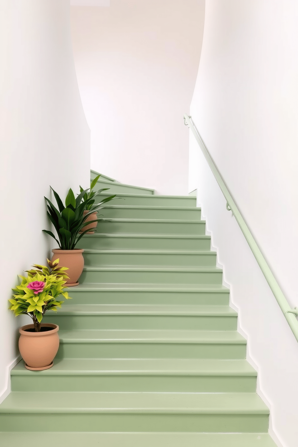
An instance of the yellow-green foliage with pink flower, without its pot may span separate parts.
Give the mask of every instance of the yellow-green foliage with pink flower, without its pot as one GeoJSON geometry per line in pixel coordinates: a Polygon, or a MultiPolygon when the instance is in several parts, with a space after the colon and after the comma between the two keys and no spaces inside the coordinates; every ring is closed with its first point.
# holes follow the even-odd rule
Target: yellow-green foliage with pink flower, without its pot
{"type": "Polygon", "coordinates": [[[68,279],[65,270],[67,267],[58,267],[59,259],[51,262],[47,259],[47,266],[34,264],[35,269],[26,270],[28,273],[21,278],[21,284],[13,291],[13,299],[9,299],[10,307],[15,316],[29,315],[34,324],[35,332],[40,332],[42,317],[48,310],[57,311],[64,301],[57,301],[59,295],[69,299],[68,293],[64,291],[68,279]]]}

